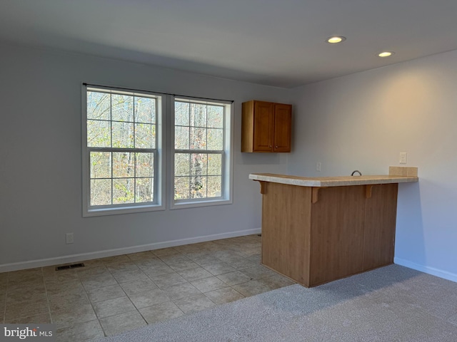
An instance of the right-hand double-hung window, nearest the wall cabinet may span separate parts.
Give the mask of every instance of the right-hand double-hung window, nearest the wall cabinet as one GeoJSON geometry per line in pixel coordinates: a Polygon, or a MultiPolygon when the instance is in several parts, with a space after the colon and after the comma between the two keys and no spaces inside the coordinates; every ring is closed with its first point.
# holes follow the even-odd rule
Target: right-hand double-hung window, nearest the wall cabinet
{"type": "Polygon", "coordinates": [[[230,202],[231,105],[174,100],[174,207],[230,202]]]}

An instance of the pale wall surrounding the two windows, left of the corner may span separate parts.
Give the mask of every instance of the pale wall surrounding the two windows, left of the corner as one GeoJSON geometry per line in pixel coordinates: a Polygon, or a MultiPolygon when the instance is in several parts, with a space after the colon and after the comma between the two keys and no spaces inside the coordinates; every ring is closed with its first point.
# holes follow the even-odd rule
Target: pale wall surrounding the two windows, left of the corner
{"type": "Polygon", "coordinates": [[[0,51],[0,271],[254,233],[261,227],[259,186],[248,174],[285,173],[286,156],[239,152],[241,103],[288,102],[290,91],[20,46],[1,45],[0,51]],[[233,204],[83,218],[83,82],[235,100],[233,204]],[[74,232],[74,244],[65,244],[66,232],[74,232]],[[149,246],[138,247],[143,245],[149,246]]]}

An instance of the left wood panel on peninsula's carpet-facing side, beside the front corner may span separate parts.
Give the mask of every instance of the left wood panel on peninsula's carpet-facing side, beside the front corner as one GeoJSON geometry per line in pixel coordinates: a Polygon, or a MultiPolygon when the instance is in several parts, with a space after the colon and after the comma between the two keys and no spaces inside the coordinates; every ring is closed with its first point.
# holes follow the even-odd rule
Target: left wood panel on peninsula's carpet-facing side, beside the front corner
{"type": "Polygon", "coordinates": [[[311,208],[310,286],[363,271],[365,185],[318,192],[311,208]]]}

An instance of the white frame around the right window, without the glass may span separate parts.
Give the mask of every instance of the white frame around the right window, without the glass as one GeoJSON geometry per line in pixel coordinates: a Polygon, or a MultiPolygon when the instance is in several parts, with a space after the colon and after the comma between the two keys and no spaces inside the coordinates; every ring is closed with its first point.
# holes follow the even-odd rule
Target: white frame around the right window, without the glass
{"type": "MultiPolygon", "coordinates": [[[[170,138],[170,156],[169,156],[169,199],[170,209],[184,209],[193,207],[207,207],[211,205],[232,204],[233,203],[233,103],[224,100],[198,99],[186,96],[171,97],[169,115],[171,123],[169,123],[170,138]],[[176,101],[185,101],[191,103],[201,103],[207,105],[223,105],[224,106],[224,150],[222,152],[223,170],[222,170],[222,193],[221,197],[209,197],[199,199],[174,199],[174,138],[175,138],[175,108],[176,101]]],[[[184,150],[179,150],[183,152],[184,150]]],[[[189,150],[189,152],[196,152],[189,150]]]]}

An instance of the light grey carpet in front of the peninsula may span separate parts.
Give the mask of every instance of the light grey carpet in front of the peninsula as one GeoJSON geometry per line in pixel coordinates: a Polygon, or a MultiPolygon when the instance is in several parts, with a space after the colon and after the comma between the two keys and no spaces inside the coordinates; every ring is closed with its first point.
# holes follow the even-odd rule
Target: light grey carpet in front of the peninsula
{"type": "Polygon", "coordinates": [[[292,285],[102,342],[457,341],[457,283],[391,265],[292,285]]]}

